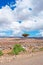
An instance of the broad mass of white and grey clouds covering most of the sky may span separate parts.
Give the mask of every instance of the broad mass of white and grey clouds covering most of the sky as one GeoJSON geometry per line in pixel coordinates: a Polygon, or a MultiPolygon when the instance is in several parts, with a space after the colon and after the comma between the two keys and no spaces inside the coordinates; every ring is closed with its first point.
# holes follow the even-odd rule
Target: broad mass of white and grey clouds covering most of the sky
{"type": "MultiPolygon", "coordinates": [[[[17,0],[14,10],[11,10],[8,5],[2,7],[0,9],[0,31],[12,30],[12,35],[20,35],[23,30],[43,30],[42,2],[42,0],[35,0],[34,2],[33,0],[17,0]],[[29,10],[29,8],[32,10],[29,10]],[[22,23],[19,23],[19,20],[22,23]]],[[[14,4],[10,6],[14,7],[14,4]]]]}

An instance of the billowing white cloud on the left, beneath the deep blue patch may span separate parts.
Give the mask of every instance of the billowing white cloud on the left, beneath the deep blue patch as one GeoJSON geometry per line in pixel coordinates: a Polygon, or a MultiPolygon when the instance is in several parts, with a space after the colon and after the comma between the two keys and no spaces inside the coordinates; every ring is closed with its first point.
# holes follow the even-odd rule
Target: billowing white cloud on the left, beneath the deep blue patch
{"type": "Polygon", "coordinates": [[[20,24],[16,22],[15,15],[10,7],[6,5],[6,7],[0,9],[0,31],[12,30],[17,34],[20,32],[19,28],[20,24]]]}

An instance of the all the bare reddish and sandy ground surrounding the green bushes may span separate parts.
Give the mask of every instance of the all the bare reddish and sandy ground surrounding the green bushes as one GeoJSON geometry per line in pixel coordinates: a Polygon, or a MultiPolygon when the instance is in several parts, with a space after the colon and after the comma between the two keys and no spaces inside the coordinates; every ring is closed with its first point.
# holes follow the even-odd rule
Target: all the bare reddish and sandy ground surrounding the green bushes
{"type": "MultiPolygon", "coordinates": [[[[10,51],[15,44],[21,44],[25,49],[30,51],[34,48],[36,51],[43,47],[43,39],[30,38],[0,38],[0,50],[10,51]]],[[[3,55],[0,57],[0,65],[43,65],[43,51],[21,53],[17,56],[3,55]]]]}

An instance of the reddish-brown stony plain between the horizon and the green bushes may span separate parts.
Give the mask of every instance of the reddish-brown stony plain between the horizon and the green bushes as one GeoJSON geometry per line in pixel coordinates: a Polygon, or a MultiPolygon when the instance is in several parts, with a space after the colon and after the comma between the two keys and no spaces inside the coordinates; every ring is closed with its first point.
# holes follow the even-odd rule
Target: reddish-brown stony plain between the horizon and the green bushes
{"type": "Polygon", "coordinates": [[[21,44],[27,51],[31,52],[35,48],[38,51],[39,47],[43,47],[43,39],[35,38],[0,38],[0,50],[9,52],[15,44],[21,44]]]}

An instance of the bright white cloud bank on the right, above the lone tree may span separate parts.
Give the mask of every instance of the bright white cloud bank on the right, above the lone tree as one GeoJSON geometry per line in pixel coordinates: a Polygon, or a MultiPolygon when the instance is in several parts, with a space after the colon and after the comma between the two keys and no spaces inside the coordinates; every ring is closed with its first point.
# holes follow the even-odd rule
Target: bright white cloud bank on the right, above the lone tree
{"type": "MultiPolygon", "coordinates": [[[[35,18],[34,18],[35,19],[35,18]]],[[[22,28],[26,30],[41,30],[43,29],[43,19],[37,18],[37,21],[34,22],[33,20],[26,20],[21,23],[22,28]]]]}

